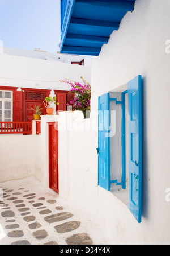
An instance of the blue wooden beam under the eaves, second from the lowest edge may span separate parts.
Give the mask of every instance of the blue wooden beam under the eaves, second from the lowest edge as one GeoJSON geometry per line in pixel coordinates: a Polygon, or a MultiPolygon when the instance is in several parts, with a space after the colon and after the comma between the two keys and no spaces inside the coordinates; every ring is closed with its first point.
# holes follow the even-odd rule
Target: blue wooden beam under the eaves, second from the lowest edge
{"type": "Polygon", "coordinates": [[[101,47],[108,43],[108,38],[101,36],[67,34],[65,46],[101,47]]]}

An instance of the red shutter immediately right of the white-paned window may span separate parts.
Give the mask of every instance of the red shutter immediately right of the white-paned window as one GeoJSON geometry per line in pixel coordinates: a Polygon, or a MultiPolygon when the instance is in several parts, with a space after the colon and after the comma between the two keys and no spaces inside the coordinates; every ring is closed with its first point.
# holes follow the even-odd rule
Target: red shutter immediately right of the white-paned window
{"type": "Polygon", "coordinates": [[[22,92],[13,92],[13,122],[23,121],[23,97],[22,92]]]}

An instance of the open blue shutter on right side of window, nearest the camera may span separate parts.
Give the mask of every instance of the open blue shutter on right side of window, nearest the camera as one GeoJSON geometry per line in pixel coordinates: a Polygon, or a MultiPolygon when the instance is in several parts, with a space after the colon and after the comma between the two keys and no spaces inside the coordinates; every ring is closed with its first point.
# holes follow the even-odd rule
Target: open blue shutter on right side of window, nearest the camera
{"type": "Polygon", "coordinates": [[[128,82],[129,210],[140,223],[142,216],[142,77],[128,82]]]}

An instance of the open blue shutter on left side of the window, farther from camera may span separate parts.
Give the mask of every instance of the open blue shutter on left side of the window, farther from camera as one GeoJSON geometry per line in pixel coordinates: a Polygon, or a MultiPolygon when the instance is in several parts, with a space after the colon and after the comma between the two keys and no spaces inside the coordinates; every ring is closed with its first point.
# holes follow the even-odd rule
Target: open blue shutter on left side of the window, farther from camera
{"type": "Polygon", "coordinates": [[[98,185],[107,191],[111,188],[110,137],[109,137],[109,93],[99,97],[98,116],[98,185]]]}

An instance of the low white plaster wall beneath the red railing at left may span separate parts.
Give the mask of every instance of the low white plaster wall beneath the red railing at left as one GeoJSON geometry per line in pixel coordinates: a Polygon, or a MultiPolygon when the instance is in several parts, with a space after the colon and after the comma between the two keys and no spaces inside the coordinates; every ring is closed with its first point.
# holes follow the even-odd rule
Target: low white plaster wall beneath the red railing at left
{"type": "Polygon", "coordinates": [[[0,135],[0,183],[30,176],[40,180],[40,136],[0,135]]]}

